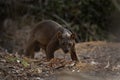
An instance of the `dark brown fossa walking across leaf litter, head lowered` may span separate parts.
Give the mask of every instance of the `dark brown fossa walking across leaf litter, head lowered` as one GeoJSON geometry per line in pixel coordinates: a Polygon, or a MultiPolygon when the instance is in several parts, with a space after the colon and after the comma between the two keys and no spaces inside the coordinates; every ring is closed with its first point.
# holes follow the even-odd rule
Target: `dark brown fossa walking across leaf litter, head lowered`
{"type": "Polygon", "coordinates": [[[34,51],[40,48],[46,52],[47,59],[54,58],[54,52],[61,48],[70,52],[72,60],[78,60],[75,52],[75,35],[52,20],[45,20],[31,31],[25,55],[34,57],[34,51]]]}

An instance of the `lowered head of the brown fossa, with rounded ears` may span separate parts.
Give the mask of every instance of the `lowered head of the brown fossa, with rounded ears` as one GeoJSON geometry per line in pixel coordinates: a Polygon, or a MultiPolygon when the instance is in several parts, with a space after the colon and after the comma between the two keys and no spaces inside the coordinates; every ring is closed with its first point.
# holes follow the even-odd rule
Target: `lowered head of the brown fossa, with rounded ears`
{"type": "Polygon", "coordinates": [[[75,45],[75,34],[69,33],[67,31],[65,32],[58,32],[57,38],[59,41],[60,48],[65,52],[69,52],[71,48],[75,45]]]}

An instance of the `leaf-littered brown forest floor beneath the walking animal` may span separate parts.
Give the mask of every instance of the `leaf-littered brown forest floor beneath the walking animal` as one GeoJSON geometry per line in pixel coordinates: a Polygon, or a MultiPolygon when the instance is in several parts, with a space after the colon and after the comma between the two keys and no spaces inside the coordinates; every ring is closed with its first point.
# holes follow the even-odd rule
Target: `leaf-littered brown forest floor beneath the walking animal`
{"type": "Polygon", "coordinates": [[[44,52],[30,59],[0,48],[0,80],[120,80],[120,43],[81,42],[76,53],[78,62],[61,50],[48,62],[44,52]]]}

